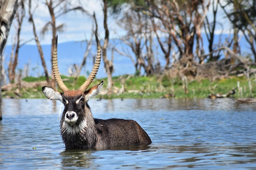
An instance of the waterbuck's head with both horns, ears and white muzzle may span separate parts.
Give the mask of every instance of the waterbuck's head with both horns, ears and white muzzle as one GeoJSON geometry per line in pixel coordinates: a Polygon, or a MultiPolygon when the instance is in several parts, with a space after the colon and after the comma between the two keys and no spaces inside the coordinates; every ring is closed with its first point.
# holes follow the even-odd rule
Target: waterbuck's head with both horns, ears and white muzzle
{"type": "Polygon", "coordinates": [[[96,76],[97,71],[99,70],[100,62],[101,62],[101,45],[99,43],[99,39],[96,34],[95,36],[97,40],[97,57],[96,57],[94,66],[92,68],[92,72],[90,73],[86,81],[79,87],[79,89],[74,91],[70,91],[67,88],[67,86],[65,86],[58,70],[58,60],[57,60],[58,36],[56,36],[54,51],[52,55],[52,68],[53,68],[53,73],[54,73],[56,82],[58,86],[61,88],[61,91],[63,93],[59,91],[55,91],[53,88],[46,87],[46,86],[42,88],[42,91],[48,99],[59,100],[64,104],[65,108],[63,111],[61,121],[66,122],[67,124],[70,124],[70,125],[73,125],[74,123],[79,125],[81,121],[84,120],[84,116],[87,115],[85,114],[85,112],[89,113],[88,116],[91,115],[90,107],[88,106],[87,102],[91,97],[96,96],[103,86],[103,81],[102,81],[100,84],[90,88],[89,90],[86,90],[88,86],[91,84],[94,77],[96,76]]]}

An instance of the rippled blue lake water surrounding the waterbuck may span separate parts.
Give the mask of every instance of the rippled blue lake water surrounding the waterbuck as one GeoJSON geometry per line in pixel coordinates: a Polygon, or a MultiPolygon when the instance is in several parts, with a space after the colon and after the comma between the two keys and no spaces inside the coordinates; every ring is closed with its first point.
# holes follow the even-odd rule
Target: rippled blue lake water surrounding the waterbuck
{"type": "Polygon", "coordinates": [[[136,120],[153,143],[65,150],[60,102],[3,99],[0,169],[256,169],[256,104],[234,99],[91,99],[89,104],[95,118],[136,120]]]}

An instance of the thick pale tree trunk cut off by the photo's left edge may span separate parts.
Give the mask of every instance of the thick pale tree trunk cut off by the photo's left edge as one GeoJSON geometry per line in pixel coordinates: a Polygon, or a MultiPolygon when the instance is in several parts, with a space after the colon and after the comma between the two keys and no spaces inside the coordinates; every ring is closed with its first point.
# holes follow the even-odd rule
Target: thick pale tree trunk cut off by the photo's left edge
{"type": "MultiPolygon", "coordinates": [[[[0,0],[0,67],[2,54],[7,42],[13,17],[18,7],[18,0],[0,0]]],[[[1,70],[0,68],[0,70],[1,70]]],[[[0,120],[2,120],[2,74],[0,73],[0,120]]]]}

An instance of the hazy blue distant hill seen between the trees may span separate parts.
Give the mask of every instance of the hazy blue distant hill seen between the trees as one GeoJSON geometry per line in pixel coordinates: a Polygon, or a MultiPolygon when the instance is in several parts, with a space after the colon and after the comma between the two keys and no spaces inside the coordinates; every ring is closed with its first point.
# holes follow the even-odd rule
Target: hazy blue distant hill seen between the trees
{"type": "MultiPolygon", "coordinates": [[[[222,35],[221,42],[224,44],[225,38],[228,38],[229,35],[224,34],[222,35]]],[[[202,35],[203,43],[204,43],[204,51],[205,53],[208,53],[208,42],[205,35],[202,35]]],[[[219,42],[219,35],[216,35],[215,38],[215,44],[219,42]]],[[[103,44],[101,42],[101,44],[103,44]]],[[[123,49],[126,49],[130,55],[132,55],[132,51],[123,43],[121,40],[110,40],[110,44],[115,45],[116,48],[118,48],[120,51],[123,49]]],[[[83,60],[83,55],[85,52],[85,47],[87,43],[86,42],[65,42],[65,43],[59,43],[58,44],[58,64],[60,73],[63,75],[69,75],[68,74],[68,68],[72,64],[81,64],[81,61],[83,60]]],[[[241,39],[240,42],[241,51],[249,51],[249,45],[245,41],[245,38],[241,39]]],[[[7,64],[10,60],[10,54],[11,54],[11,46],[6,46],[4,50],[4,68],[7,69],[7,64]]],[[[45,61],[47,64],[47,69],[49,73],[51,73],[51,46],[50,45],[43,45],[43,53],[45,55],[45,61]]],[[[96,42],[93,42],[92,44],[92,53],[89,53],[88,60],[86,62],[85,67],[83,68],[81,74],[87,76],[87,72],[90,72],[92,69],[92,55],[96,54],[96,42]]],[[[155,51],[155,53],[158,53],[158,60],[160,61],[161,65],[165,64],[165,60],[163,56],[161,55],[161,51],[158,49],[155,51]]],[[[108,58],[111,58],[111,49],[108,50],[108,58]]],[[[30,69],[29,69],[29,75],[37,77],[38,75],[43,75],[43,67],[41,66],[41,60],[38,53],[38,49],[36,45],[23,45],[20,48],[19,52],[19,58],[18,58],[18,67],[19,69],[24,69],[25,64],[30,63],[30,69]]],[[[132,61],[125,56],[120,56],[118,53],[114,53],[114,69],[115,72],[113,73],[113,76],[117,75],[124,75],[124,74],[134,74],[135,68],[132,64],[132,61]]],[[[99,68],[99,72],[97,74],[97,78],[106,77],[106,73],[104,70],[104,64],[101,62],[101,66],[99,68]]]]}

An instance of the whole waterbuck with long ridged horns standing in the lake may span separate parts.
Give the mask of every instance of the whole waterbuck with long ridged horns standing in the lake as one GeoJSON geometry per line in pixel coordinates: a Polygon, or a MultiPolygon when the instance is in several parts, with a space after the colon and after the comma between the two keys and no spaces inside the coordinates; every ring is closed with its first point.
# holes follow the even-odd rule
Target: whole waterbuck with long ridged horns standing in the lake
{"type": "Polygon", "coordinates": [[[103,86],[103,81],[86,90],[97,74],[101,62],[101,45],[97,40],[97,57],[88,79],[78,90],[70,91],[63,83],[58,71],[57,39],[54,44],[52,68],[54,77],[63,93],[53,88],[42,88],[50,100],[61,101],[65,108],[61,117],[61,135],[66,149],[107,148],[111,146],[131,146],[151,144],[148,134],[134,120],[94,119],[88,100],[96,96],[103,86]]]}

